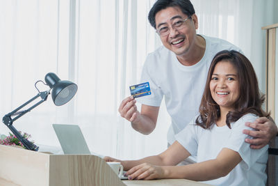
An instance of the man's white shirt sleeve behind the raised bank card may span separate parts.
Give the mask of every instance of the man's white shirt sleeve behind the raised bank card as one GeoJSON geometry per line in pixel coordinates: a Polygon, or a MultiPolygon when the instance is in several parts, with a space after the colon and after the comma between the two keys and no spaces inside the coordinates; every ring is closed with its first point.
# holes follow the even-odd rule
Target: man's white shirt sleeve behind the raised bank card
{"type": "Polygon", "coordinates": [[[141,104],[159,107],[163,99],[163,91],[158,81],[158,74],[156,67],[156,58],[154,54],[149,54],[142,69],[141,83],[149,82],[151,88],[151,95],[136,98],[141,104]]]}

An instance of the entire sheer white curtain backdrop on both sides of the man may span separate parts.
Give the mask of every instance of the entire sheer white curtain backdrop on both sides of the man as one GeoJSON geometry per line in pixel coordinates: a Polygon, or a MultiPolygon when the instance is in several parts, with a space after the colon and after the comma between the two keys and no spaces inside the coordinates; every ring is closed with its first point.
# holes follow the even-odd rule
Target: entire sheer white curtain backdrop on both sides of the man
{"type": "MultiPolygon", "coordinates": [[[[37,144],[59,146],[52,123],[77,124],[90,150],[119,158],[154,155],[167,148],[170,118],[164,104],[156,130],[139,134],[117,108],[140,83],[149,52],[161,42],[147,14],[154,0],[1,0],[0,116],[35,96],[34,84],[47,72],[76,82],[74,99],[56,107],[47,102],[14,125],[37,144]]],[[[273,22],[273,1],[193,0],[198,33],[229,40],[253,62],[263,89],[265,33],[273,22]]],[[[40,91],[47,86],[38,84],[40,91]]],[[[140,105],[138,105],[140,109],[140,105]]],[[[0,133],[8,134],[5,125],[0,133]]]]}

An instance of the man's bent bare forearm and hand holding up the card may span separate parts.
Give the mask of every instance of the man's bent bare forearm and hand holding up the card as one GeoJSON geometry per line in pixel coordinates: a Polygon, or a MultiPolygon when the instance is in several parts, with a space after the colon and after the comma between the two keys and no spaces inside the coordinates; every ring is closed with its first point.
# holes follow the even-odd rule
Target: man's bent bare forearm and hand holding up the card
{"type": "Polygon", "coordinates": [[[142,104],[140,113],[133,96],[124,99],[119,107],[121,116],[130,121],[133,129],[142,134],[150,134],[155,129],[158,111],[159,107],[142,104]]]}

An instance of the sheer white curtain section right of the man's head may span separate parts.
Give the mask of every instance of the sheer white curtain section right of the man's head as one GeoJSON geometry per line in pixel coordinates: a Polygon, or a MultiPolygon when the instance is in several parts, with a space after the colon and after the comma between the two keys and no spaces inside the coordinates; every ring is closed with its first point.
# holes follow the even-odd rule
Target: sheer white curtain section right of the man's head
{"type": "Polygon", "coordinates": [[[265,92],[265,31],[277,21],[277,1],[192,0],[199,18],[199,33],[228,40],[252,62],[265,92]]]}

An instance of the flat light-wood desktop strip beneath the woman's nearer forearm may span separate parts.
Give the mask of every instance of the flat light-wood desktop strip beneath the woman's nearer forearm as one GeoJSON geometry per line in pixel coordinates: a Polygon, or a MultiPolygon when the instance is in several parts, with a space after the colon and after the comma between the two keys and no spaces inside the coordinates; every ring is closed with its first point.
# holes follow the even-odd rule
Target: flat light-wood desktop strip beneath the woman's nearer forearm
{"type": "Polygon", "coordinates": [[[207,184],[198,183],[186,179],[163,179],[163,180],[123,180],[127,186],[161,185],[161,186],[205,186],[207,184]]]}

